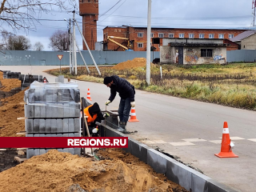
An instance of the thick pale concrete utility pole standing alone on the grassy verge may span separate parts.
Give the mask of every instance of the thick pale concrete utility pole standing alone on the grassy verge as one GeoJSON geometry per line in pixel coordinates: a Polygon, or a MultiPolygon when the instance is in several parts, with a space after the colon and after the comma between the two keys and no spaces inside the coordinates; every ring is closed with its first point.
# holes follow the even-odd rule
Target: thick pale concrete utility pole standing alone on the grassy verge
{"type": "Polygon", "coordinates": [[[150,38],[151,38],[151,0],[148,0],[146,37],[146,83],[150,86],[150,38]]]}

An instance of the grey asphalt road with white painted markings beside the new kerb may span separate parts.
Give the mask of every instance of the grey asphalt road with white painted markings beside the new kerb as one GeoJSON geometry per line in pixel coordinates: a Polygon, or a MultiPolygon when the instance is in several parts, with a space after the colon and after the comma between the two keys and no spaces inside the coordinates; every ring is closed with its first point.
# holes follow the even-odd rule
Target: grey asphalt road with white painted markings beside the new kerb
{"type": "MultiPolygon", "coordinates": [[[[43,70],[58,66],[0,66],[0,70],[54,76],[43,70]]],[[[110,96],[110,88],[100,83],[77,81],[81,95],[90,88],[93,102],[102,109],[110,96]]],[[[119,97],[108,106],[118,110],[119,97]]],[[[216,104],[151,94],[136,90],[136,115],[140,122],[130,122],[127,130],[138,130],[130,137],[159,147],[178,156],[182,162],[202,170],[204,174],[238,191],[255,191],[256,182],[256,112],[216,104]],[[239,158],[218,158],[221,149],[223,122],[228,122],[234,154],[239,158]]]]}

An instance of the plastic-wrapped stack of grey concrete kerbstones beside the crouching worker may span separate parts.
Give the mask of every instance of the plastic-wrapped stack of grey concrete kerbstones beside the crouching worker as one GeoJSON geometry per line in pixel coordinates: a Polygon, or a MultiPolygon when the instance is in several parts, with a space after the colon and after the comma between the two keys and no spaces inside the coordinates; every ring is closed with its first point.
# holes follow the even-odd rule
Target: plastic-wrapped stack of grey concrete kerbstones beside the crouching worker
{"type": "MultiPolygon", "coordinates": [[[[80,90],[77,83],[33,82],[25,91],[26,137],[81,137],[80,90]]],[[[26,157],[50,149],[27,149],[26,157]]],[[[80,154],[79,148],[57,149],[80,154]]]]}

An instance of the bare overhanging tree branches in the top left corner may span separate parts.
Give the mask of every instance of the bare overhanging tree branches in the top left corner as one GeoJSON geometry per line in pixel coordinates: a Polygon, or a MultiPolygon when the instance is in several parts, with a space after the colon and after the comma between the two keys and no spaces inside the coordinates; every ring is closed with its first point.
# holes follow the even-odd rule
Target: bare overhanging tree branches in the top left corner
{"type": "Polygon", "coordinates": [[[58,7],[59,10],[73,9],[75,0],[1,0],[0,1],[0,30],[10,26],[14,32],[35,28],[34,22],[39,22],[38,15],[50,13],[58,7]]]}

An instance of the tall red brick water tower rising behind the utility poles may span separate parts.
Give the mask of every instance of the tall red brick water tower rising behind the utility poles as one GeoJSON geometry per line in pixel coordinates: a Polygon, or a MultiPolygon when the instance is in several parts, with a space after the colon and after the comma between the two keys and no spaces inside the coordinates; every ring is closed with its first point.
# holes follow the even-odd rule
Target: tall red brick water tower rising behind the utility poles
{"type": "MultiPolygon", "coordinates": [[[[79,14],[82,16],[82,34],[90,50],[94,50],[97,42],[98,0],[79,0],[79,14]]],[[[83,50],[87,50],[84,43],[83,50]]]]}

